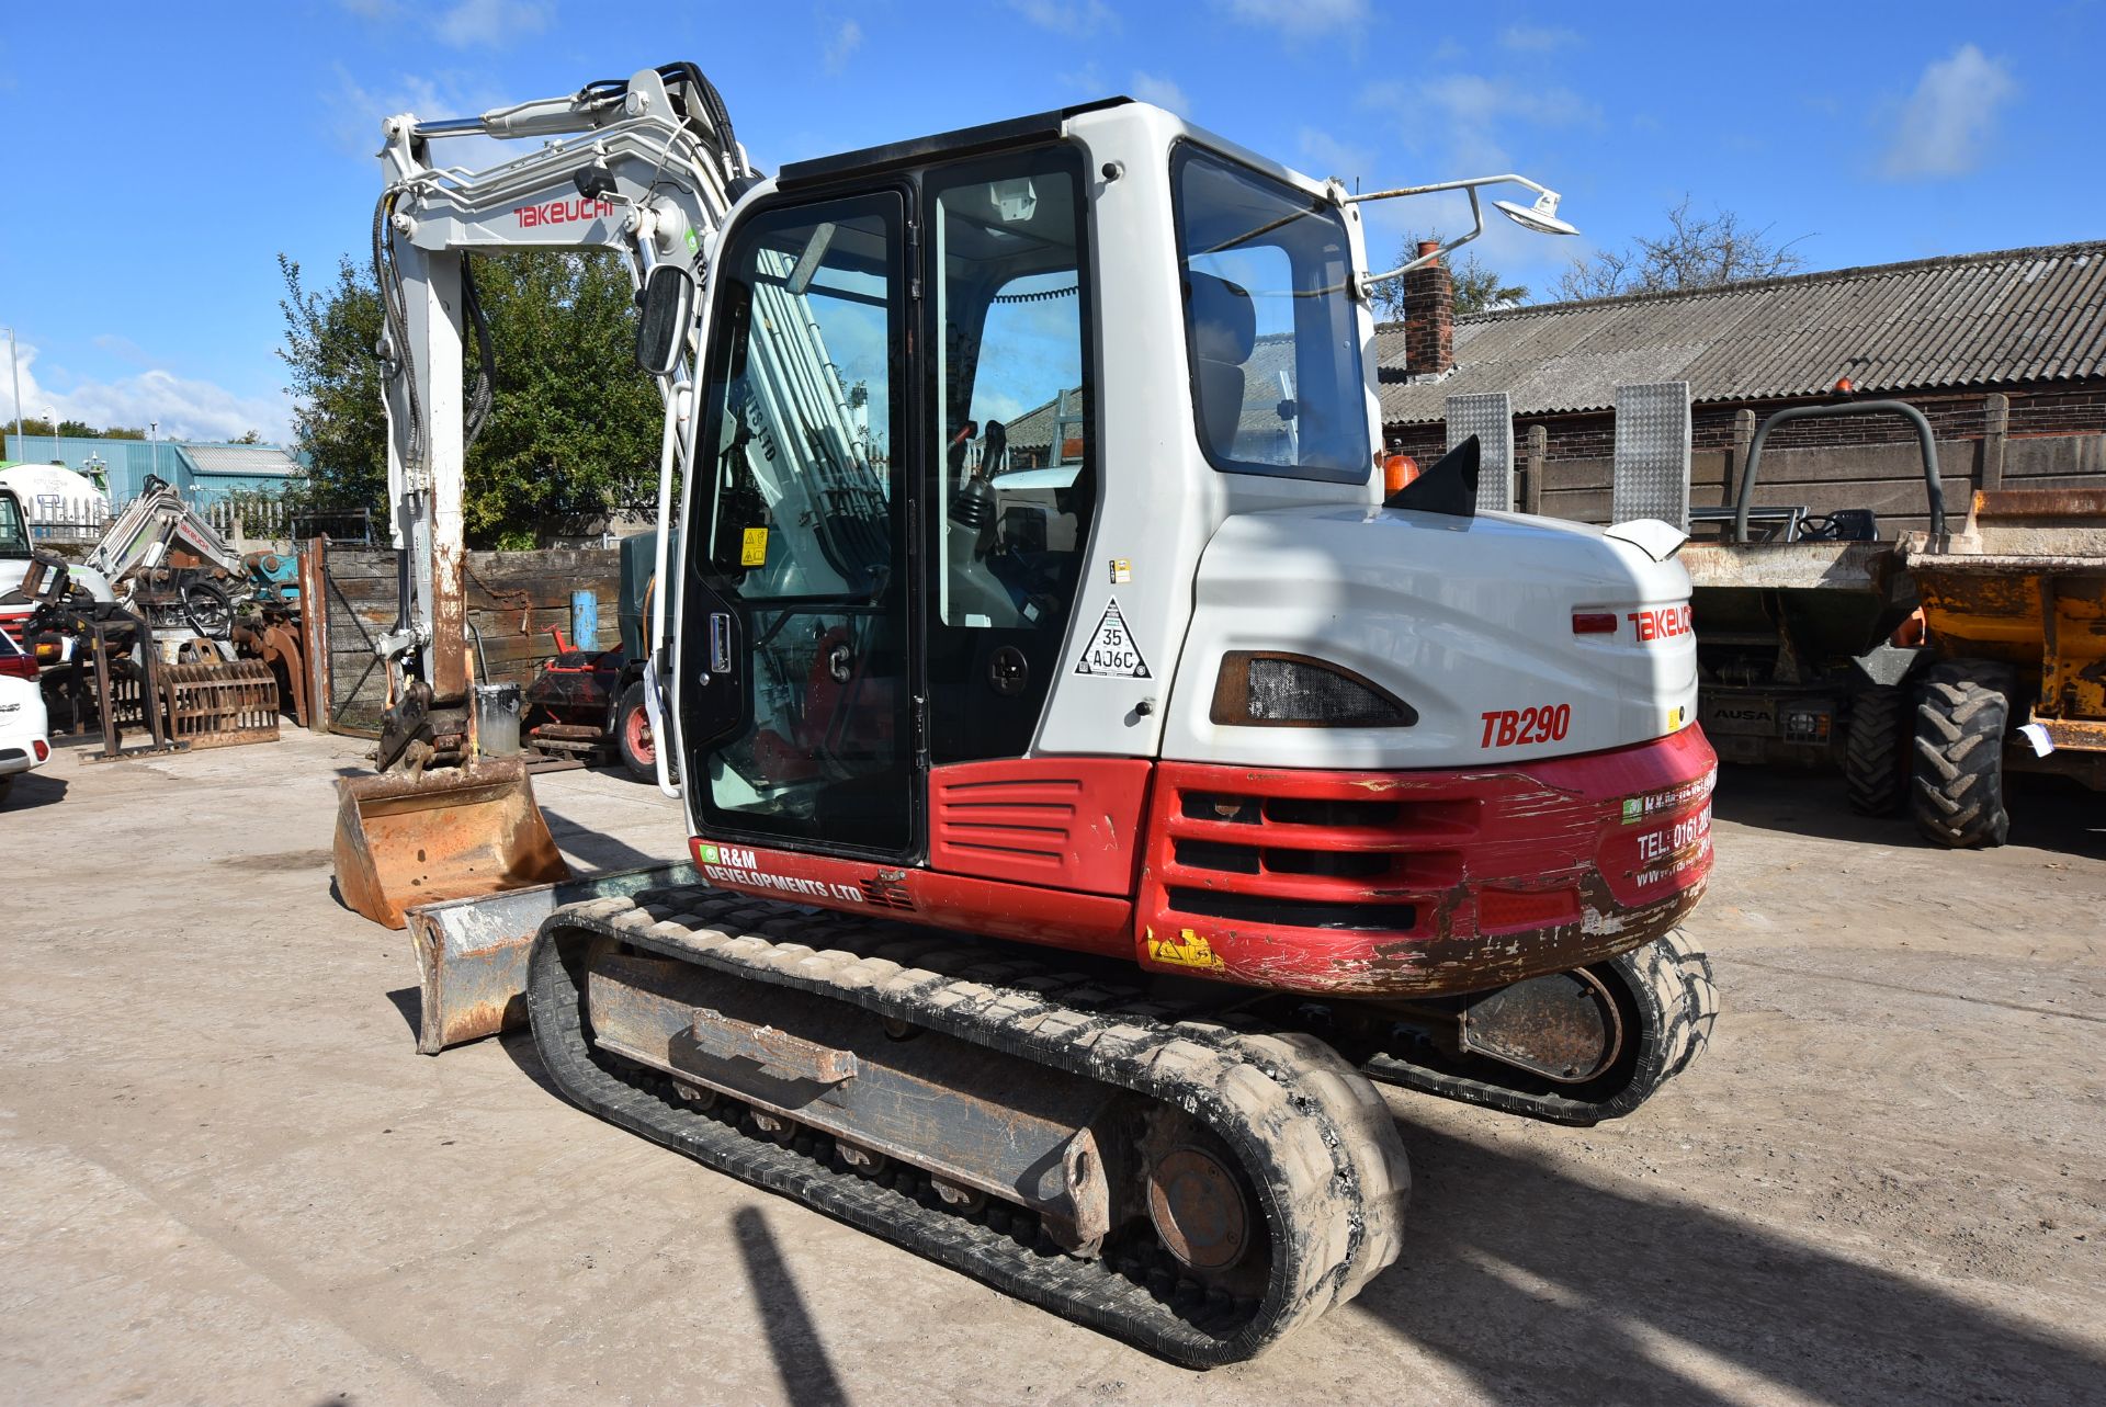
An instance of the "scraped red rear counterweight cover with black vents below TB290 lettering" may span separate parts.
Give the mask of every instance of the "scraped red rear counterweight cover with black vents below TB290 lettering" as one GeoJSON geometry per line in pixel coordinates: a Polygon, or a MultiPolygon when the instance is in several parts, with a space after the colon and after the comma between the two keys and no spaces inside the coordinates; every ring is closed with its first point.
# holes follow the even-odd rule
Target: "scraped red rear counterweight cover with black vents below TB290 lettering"
{"type": "Polygon", "coordinates": [[[1714,779],[1695,727],[1472,771],[1163,762],[1137,956],[1369,996],[1584,967],[1695,906],[1714,779]]]}

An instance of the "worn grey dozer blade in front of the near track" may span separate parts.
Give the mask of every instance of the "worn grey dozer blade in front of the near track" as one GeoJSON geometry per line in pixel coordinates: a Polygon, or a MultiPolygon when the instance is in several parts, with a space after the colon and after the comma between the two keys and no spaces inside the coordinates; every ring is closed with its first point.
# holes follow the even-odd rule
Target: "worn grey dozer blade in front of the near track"
{"type": "Polygon", "coordinates": [[[438,1055],[449,1045],[526,1026],[526,954],[541,920],[558,908],[701,883],[695,866],[682,859],[480,899],[419,904],[409,910],[409,933],[417,944],[417,971],[423,979],[417,1051],[438,1055]]]}

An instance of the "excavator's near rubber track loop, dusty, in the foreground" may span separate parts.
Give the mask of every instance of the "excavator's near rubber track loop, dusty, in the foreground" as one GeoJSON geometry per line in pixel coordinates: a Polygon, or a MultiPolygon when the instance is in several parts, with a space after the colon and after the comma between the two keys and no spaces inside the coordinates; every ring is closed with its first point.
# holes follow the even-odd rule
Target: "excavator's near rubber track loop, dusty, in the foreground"
{"type": "Polygon", "coordinates": [[[1388,1106],[1352,1066],[1312,1036],[1171,1026],[1064,1000],[1087,1000],[1093,990],[1101,988],[1080,975],[1005,960],[1005,950],[958,948],[906,925],[703,887],[558,912],[535,939],[526,1005],[543,1064],[581,1108],[1188,1367],[1257,1354],[1396,1260],[1409,1167],[1388,1106]],[[1272,1245],[1266,1291],[1249,1300],[1207,1293],[1177,1281],[1163,1255],[1154,1264],[1131,1253],[1070,1257],[1021,1209],[990,1201],[994,1215],[967,1217],[946,1209],[927,1177],[872,1180],[847,1169],[832,1156],[832,1140],[802,1140],[800,1150],[741,1131],[722,1102],[697,1112],[657,1072],[617,1062],[585,1038],[579,984],[594,935],[1184,1108],[1226,1140],[1255,1184],[1272,1245]],[[815,950],[800,939],[830,946],[815,950]]]}

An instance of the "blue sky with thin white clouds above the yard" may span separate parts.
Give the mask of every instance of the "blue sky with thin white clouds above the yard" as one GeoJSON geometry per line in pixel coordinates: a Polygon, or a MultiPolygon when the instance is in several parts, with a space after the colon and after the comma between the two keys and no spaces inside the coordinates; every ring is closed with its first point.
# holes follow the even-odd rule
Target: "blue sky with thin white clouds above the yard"
{"type": "MultiPolygon", "coordinates": [[[[2106,8],[1375,0],[284,0],[0,15],[0,324],[23,402],[164,434],[289,425],[274,255],[364,249],[379,118],[459,116],[670,59],[786,160],[1127,93],[1369,187],[1523,171],[1584,242],[1499,221],[1544,293],[1685,194],[1809,267],[2106,238],[2106,8]]],[[[1379,244],[1457,227],[1377,206],[1379,244]]],[[[0,413],[13,415],[0,383],[0,413]]]]}

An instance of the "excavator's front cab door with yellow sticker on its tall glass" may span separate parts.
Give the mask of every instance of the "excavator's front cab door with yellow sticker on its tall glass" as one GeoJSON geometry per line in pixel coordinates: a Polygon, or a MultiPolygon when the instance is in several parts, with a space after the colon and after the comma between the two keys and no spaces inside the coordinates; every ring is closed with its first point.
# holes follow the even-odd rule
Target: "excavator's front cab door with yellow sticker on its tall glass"
{"type": "Polygon", "coordinates": [[[760,211],[712,276],[680,739],[712,838],[918,845],[906,198],[760,211]]]}

